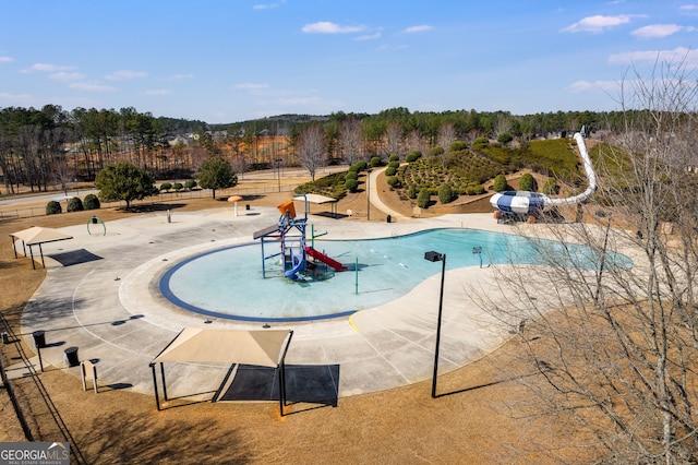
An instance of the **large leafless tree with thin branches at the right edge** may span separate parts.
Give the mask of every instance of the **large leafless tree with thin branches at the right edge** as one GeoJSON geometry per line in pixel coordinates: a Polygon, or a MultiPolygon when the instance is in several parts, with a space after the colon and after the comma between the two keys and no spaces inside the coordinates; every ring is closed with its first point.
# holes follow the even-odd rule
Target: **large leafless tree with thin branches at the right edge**
{"type": "Polygon", "coordinates": [[[597,146],[586,220],[528,228],[543,265],[500,266],[501,298],[481,295],[539,373],[512,412],[568,429],[568,444],[537,444],[552,454],[698,461],[697,95],[684,62],[624,81],[626,130],[597,146]]]}

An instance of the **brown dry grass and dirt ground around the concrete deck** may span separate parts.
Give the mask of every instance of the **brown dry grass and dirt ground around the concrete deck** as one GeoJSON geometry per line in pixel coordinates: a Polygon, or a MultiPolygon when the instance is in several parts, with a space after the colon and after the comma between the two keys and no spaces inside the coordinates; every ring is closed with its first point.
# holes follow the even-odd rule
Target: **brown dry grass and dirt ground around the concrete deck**
{"type": "MultiPolygon", "coordinates": [[[[221,193],[220,195],[225,195],[221,193]]],[[[289,193],[245,199],[253,205],[276,206],[289,193]]],[[[390,192],[382,200],[411,215],[412,205],[390,192]]],[[[195,199],[178,203],[179,211],[230,207],[218,200],[195,199]]],[[[337,212],[352,210],[342,220],[365,220],[365,193],[342,199],[337,212]],[[362,216],[363,215],[363,216],[362,216]]],[[[448,208],[428,208],[422,216],[448,208]]],[[[457,213],[491,212],[486,199],[456,204],[457,213]]],[[[312,213],[312,212],[311,212],[312,213]]],[[[15,259],[8,235],[31,226],[62,227],[85,224],[94,212],[0,222],[0,296],[2,318],[12,332],[26,301],[45,277],[24,258],[15,259]]],[[[144,213],[103,208],[105,222],[144,213]]],[[[371,211],[371,220],[385,214],[371,211]]],[[[12,334],[19,336],[19,334],[12,334]]],[[[2,362],[16,362],[16,344],[2,346],[2,362]]],[[[28,356],[29,347],[23,347],[28,356]]],[[[513,341],[484,359],[438,378],[437,398],[431,382],[340,398],[336,406],[294,404],[280,417],[277,403],[198,403],[157,412],[151,395],[129,390],[84,392],[81,381],[49,367],[15,389],[35,440],[72,438],[73,463],[545,463],[532,438],[555,442],[557,428],[542,419],[517,419],[506,409],[525,396],[515,381],[528,367],[513,367],[513,341]],[[37,388],[37,381],[39,386],[37,388]],[[39,393],[44,391],[45,394],[39,393]],[[46,397],[50,398],[47,407],[46,397]],[[62,425],[61,428],[56,425],[62,425]],[[62,430],[62,432],[61,432],[62,430]],[[74,451],[75,452],[75,451],[74,451]]],[[[0,391],[0,441],[24,440],[4,390],[0,391]]]]}

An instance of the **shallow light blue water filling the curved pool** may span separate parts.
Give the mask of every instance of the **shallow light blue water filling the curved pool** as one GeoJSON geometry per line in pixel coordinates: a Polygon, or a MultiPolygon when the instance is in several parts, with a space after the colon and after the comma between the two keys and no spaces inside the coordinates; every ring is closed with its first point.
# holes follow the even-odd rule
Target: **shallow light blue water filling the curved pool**
{"type": "MultiPolygon", "coordinates": [[[[550,250],[563,250],[557,242],[542,243],[550,250]]],[[[349,270],[332,273],[328,269],[325,279],[309,276],[293,282],[282,276],[278,257],[265,262],[263,278],[262,247],[255,242],[178,263],[160,279],[160,291],[177,306],[207,317],[260,322],[318,320],[395,300],[441,273],[441,262],[424,260],[426,251],[445,253],[446,269],[452,270],[480,266],[481,259],[483,266],[542,263],[537,252],[540,245],[540,240],[473,229],[430,229],[384,239],[315,240],[315,249],[349,270]],[[473,248],[481,248],[482,253],[473,253],[473,248]]],[[[266,243],[265,253],[272,253],[273,247],[266,243]]],[[[565,253],[583,267],[598,262],[597,253],[587,247],[567,245],[565,253]]],[[[624,255],[607,255],[606,264],[610,262],[630,265],[624,255]]]]}

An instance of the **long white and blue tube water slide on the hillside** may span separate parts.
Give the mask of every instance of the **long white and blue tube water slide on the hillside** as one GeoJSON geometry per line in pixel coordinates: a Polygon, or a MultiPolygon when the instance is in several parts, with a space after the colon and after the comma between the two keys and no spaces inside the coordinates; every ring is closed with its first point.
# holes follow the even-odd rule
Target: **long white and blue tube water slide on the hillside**
{"type": "Polygon", "coordinates": [[[583,202],[597,190],[597,174],[591,166],[591,158],[587,151],[587,144],[581,133],[575,134],[575,141],[579,147],[579,154],[585,165],[585,172],[589,180],[587,190],[580,194],[566,199],[551,199],[545,194],[528,191],[505,191],[492,195],[490,204],[497,211],[503,213],[533,214],[541,211],[550,210],[556,205],[570,205],[577,202],[583,202]]]}

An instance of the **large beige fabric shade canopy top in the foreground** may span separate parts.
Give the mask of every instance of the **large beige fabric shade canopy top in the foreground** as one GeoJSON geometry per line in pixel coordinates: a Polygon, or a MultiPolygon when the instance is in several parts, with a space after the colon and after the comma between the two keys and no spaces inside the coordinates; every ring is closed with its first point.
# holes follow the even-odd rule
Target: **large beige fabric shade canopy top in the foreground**
{"type": "Polygon", "coordinates": [[[288,330],[202,330],[184,327],[153,359],[164,361],[243,363],[277,367],[284,353],[288,330]]]}

